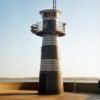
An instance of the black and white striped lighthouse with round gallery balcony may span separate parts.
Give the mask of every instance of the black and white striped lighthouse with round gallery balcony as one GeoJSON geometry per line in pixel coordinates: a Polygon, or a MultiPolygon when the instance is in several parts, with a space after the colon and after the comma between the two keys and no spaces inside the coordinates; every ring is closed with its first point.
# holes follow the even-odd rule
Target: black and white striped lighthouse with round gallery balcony
{"type": "Polygon", "coordinates": [[[65,23],[59,22],[58,10],[40,11],[43,21],[31,26],[31,31],[43,37],[38,94],[63,93],[63,80],[58,38],[65,35],[65,23]]]}

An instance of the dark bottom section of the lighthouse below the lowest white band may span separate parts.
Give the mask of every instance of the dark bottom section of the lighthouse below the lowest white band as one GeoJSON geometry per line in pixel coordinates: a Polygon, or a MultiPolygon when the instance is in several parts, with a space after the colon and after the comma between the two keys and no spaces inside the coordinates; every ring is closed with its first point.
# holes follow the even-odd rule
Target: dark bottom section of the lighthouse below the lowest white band
{"type": "Polygon", "coordinates": [[[38,94],[62,94],[61,74],[61,71],[40,71],[38,94]]]}

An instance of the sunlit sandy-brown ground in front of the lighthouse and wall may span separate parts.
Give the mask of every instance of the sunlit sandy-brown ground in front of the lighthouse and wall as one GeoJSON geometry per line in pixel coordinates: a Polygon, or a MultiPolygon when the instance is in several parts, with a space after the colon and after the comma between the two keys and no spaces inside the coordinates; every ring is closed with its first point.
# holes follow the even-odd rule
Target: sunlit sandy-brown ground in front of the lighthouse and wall
{"type": "Polygon", "coordinates": [[[0,100],[100,100],[100,94],[69,93],[37,95],[37,91],[0,91],[0,100]]]}

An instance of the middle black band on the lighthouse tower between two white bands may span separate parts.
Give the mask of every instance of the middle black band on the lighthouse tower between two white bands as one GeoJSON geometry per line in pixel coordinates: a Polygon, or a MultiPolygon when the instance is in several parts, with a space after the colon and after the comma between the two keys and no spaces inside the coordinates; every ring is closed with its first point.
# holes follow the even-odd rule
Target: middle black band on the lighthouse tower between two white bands
{"type": "Polygon", "coordinates": [[[41,59],[59,59],[58,47],[56,45],[43,46],[41,59]]]}

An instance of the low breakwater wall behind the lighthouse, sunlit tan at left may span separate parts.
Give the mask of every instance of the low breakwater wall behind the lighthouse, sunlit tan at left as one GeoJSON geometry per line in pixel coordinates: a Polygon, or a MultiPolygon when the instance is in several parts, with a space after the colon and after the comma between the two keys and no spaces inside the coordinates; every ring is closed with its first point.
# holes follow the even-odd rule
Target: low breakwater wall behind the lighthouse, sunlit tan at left
{"type": "MultiPolygon", "coordinates": [[[[65,92],[100,93],[98,83],[64,82],[65,92]]],[[[38,90],[38,82],[0,82],[2,90],[38,90]]]]}

